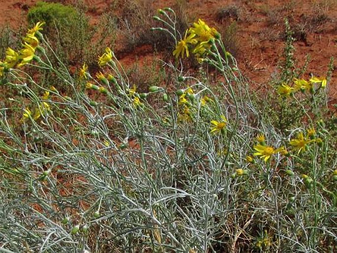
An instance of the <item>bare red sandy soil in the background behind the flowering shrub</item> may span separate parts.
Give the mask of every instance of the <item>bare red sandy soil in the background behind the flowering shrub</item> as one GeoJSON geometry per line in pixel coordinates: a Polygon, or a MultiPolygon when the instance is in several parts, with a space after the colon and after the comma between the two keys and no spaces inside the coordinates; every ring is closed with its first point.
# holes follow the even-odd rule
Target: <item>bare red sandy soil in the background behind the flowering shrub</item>
{"type": "MultiPolygon", "coordinates": [[[[9,23],[13,28],[26,22],[26,12],[37,0],[6,0],[0,5],[0,25],[9,23]]],[[[135,0],[137,1],[137,0],[135,0]]],[[[140,0],[139,0],[140,1],[140,0]]],[[[149,1],[154,9],[173,6],[176,0],[149,1]]],[[[55,1],[56,2],[56,1],[55,1]]],[[[71,3],[71,0],[58,2],[71,3]]],[[[87,4],[91,24],[98,22],[99,15],[112,6],[116,0],[83,0],[87,4]]],[[[127,0],[119,0],[119,3],[127,0]]],[[[305,31],[305,38],[295,42],[297,65],[302,66],[306,55],[311,62],[304,78],[309,73],[325,76],[332,56],[337,56],[337,1],[336,0],[186,0],[190,21],[204,19],[208,24],[221,30],[228,26],[235,17],[222,20],[216,18],[219,9],[233,5],[239,9],[237,20],[238,53],[237,60],[252,83],[267,84],[277,70],[277,63],[284,46],[284,22],[287,17],[291,27],[305,31]]],[[[149,46],[136,48],[135,52],[123,55],[124,64],[135,60],[144,62],[153,57],[149,46]],[[144,50],[146,49],[146,50],[144,50]],[[145,60],[144,60],[145,59],[145,60]]],[[[329,84],[330,105],[337,101],[337,63],[329,84]]]]}

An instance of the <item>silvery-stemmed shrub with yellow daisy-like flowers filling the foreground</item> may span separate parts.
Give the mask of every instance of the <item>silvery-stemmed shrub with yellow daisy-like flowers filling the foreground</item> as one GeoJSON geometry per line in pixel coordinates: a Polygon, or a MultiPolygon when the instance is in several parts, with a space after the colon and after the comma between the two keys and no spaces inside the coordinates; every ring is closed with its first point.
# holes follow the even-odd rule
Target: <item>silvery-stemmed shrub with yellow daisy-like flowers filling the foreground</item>
{"type": "MultiPolygon", "coordinates": [[[[173,92],[158,74],[140,76],[151,85],[140,93],[110,48],[101,72],[84,64],[77,79],[60,58],[51,64],[38,25],[30,35],[39,44],[1,61],[20,95],[0,109],[4,251],[336,252],[336,132],[316,121],[329,76],[279,84],[306,118],[278,129],[254,106],[219,32],[198,20],[182,38],[171,8],[156,19],[176,44],[176,61],[164,64],[173,92]],[[188,54],[218,71],[224,95],[190,73],[180,61],[188,54]],[[29,68],[47,69],[71,93],[41,86],[29,68]]],[[[290,46],[281,80],[296,73],[290,46]]]]}

